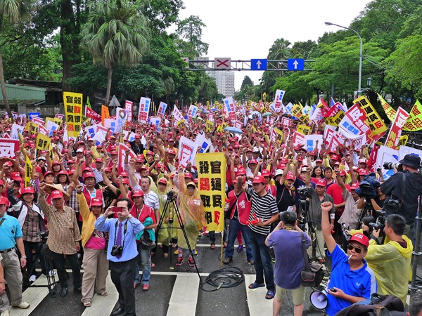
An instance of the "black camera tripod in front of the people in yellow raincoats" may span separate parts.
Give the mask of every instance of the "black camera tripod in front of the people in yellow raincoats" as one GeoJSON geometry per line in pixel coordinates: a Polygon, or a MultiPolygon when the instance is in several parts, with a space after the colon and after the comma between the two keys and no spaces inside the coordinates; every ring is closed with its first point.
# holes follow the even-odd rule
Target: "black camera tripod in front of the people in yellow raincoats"
{"type": "MultiPolygon", "coordinates": [[[[188,246],[189,254],[191,254],[191,256],[192,256],[193,264],[195,265],[196,272],[198,273],[199,283],[202,284],[201,279],[200,279],[199,270],[198,270],[198,265],[196,265],[195,256],[192,252],[192,248],[191,248],[191,244],[189,243],[188,235],[186,235],[186,230],[185,230],[185,227],[184,227],[183,220],[181,219],[179,208],[177,207],[176,201],[174,201],[174,191],[170,191],[170,192],[167,193],[167,200],[164,204],[164,210],[162,211],[162,214],[160,216],[160,221],[158,222],[158,226],[157,226],[157,235],[158,235],[158,232],[160,231],[160,229],[167,229],[169,231],[169,239],[172,238],[173,230],[181,230],[183,232],[184,238],[186,240],[186,245],[188,246]],[[173,227],[174,219],[173,219],[172,216],[170,216],[170,205],[173,206],[174,213],[176,214],[177,220],[179,222],[179,227],[173,227]],[[169,218],[169,227],[161,228],[163,220],[164,220],[164,218],[166,218],[166,214],[168,215],[168,218],[169,218]]],[[[170,263],[171,262],[172,262],[172,256],[170,255],[170,263]]]]}

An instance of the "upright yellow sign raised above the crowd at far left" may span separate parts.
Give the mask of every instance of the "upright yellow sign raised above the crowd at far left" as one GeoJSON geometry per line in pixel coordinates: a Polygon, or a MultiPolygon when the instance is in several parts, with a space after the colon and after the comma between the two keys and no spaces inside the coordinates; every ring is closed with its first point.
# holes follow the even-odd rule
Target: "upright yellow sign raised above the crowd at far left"
{"type": "Polygon", "coordinates": [[[79,136],[82,126],[82,93],[63,92],[68,136],[79,136]]]}

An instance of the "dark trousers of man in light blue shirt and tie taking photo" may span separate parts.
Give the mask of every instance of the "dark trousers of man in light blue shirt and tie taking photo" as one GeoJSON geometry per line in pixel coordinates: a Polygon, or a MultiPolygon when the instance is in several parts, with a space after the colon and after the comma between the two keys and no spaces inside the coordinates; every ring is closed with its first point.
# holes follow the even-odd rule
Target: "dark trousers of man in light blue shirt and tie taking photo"
{"type": "Polygon", "coordinates": [[[124,262],[110,261],[111,280],[115,284],[119,293],[119,307],[124,309],[123,315],[136,316],[135,292],[133,284],[135,282],[136,258],[124,262]]]}

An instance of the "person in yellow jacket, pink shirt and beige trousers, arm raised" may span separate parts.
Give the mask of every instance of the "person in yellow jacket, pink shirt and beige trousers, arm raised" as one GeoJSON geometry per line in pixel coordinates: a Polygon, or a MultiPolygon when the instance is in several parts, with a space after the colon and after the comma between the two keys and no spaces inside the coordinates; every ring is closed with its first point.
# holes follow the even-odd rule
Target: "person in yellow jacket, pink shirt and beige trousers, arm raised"
{"type": "Polygon", "coordinates": [[[79,203],[79,213],[83,219],[82,246],[84,247],[84,277],[82,278],[82,299],[85,307],[90,307],[95,293],[107,296],[106,278],[108,275],[108,260],[106,249],[106,233],[94,226],[103,213],[103,200],[98,197],[91,199],[91,207],[82,194],[82,185],[76,187],[76,198],[79,203]]]}

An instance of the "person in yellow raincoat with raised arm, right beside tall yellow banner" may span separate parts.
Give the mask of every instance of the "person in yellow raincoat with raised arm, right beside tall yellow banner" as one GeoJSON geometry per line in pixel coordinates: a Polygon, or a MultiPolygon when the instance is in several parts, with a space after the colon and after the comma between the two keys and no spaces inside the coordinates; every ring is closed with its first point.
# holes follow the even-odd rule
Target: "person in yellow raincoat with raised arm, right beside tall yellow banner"
{"type": "MultiPolygon", "coordinates": [[[[200,199],[198,189],[195,183],[189,182],[185,184],[183,168],[179,167],[179,176],[177,179],[179,186],[179,212],[181,220],[184,223],[184,229],[188,242],[191,246],[192,253],[195,253],[196,240],[198,239],[198,232],[205,225],[205,213],[203,202],[200,199]]],[[[179,237],[177,239],[179,248],[176,265],[183,263],[183,249],[187,249],[188,245],[184,237],[183,231],[179,230],[179,237]]],[[[195,266],[192,255],[189,254],[188,265],[195,266]]]]}

